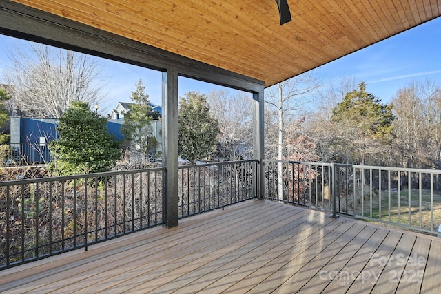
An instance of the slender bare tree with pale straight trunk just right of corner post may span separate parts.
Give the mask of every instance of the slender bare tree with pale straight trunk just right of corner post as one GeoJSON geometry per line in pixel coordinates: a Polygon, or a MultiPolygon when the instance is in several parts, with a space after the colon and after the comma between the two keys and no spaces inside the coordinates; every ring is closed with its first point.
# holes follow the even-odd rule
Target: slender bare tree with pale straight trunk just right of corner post
{"type": "MultiPolygon", "coordinates": [[[[284,157],[284,128],[288,122],[298,118],[300,112],[305,112],[308,103],[315,100],[315,92],[321,85],[320,79],[314,72],[307,72],[289,78],[286,81],[278,83],[274,87],[269,87],[265,93],[265,102],[277,112],[278,121],[278,144],[277,144],[277,158],[283,160],[284,157]]],[[[280,162],[278,165],[278,174],[283,174],[283,165],[280,162]]],[[[279,199],[283,200],[283,179],[279,177],[278,183],[279,199]]]]}

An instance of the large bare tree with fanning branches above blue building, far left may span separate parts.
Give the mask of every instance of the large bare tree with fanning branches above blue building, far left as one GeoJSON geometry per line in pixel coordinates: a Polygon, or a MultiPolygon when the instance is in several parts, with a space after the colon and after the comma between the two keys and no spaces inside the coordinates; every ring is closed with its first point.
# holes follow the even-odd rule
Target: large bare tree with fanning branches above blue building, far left
{"type": "Polygon", "coordinates": [[[14,114],[59,118],[72,101],[94,105],[103,98],[103,63],[93,56],[29,43],[10,50],[9,58],[6,81],[14,86],[14,114]]]}

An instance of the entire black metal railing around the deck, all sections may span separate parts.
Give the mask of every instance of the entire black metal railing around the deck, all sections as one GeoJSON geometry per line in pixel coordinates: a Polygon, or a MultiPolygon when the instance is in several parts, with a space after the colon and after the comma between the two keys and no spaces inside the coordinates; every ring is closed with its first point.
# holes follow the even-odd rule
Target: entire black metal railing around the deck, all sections
{"type": "MultiPolygon", "coordinates": [[[[155,168],[0,182],[0,269],[163,224],[165,176],[155,168]]],[[[278,160],[178,167],[178,218],[260,196],[433,235],[441,224],[438,170],[278,160]]]]}

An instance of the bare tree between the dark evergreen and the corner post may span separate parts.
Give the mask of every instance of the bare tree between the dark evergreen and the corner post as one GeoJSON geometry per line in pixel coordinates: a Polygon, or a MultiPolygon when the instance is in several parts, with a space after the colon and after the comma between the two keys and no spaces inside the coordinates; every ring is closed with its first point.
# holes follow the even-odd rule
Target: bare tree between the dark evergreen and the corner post
{"type": "Polygon", "coordinates": [[[226,160],[252,157],[252,100],[245,94],[230,96],[218,90],[208,95],[210,112],[218,119],[218,156],[226,160]]]}

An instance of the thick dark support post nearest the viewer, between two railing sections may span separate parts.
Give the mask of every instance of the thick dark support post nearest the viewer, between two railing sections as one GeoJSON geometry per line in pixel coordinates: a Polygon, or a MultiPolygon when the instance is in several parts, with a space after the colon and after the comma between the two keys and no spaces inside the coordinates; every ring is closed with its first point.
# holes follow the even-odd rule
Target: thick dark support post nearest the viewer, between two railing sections
{"type": "Polygon", "coordinates": [[[163,72],[163,222],[165,227],[178,225],[178,72],[163,72]]]}

